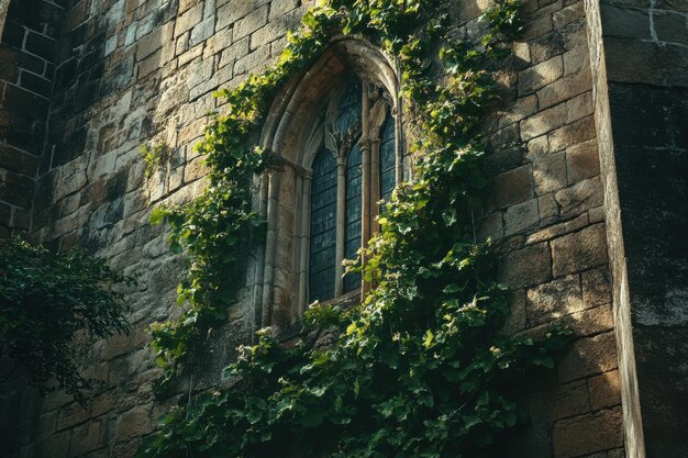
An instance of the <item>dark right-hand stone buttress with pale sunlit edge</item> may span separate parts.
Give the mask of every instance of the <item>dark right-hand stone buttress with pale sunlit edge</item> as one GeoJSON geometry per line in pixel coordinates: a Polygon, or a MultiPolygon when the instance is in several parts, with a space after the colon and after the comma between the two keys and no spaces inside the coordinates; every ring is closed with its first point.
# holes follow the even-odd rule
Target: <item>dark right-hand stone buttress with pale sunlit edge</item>
{"type": "Polygon", "coordinates": [[[630,456],[686,456],[688,4],[606,0],[595,9],[630,456]]]}

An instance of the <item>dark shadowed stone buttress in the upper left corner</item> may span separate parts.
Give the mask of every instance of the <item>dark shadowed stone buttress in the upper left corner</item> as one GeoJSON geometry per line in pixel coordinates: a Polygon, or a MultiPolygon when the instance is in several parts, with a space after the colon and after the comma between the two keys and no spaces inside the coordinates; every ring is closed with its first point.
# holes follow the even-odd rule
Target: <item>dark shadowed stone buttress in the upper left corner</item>
{"type": "Polygon", "coordinates": [[[3,2],[0,42],[0,238],[27,231],[45,138],[63,9],[46,0],[3,2]]]}

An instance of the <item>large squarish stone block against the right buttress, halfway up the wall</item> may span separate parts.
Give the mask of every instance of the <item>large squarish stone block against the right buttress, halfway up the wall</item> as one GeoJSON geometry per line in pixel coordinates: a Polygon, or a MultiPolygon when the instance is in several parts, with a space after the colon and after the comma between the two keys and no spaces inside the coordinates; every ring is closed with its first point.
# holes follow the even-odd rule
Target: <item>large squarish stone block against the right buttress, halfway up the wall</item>
{"type": "Polygon", "coordinates": [[[552,241],[552,272],[555,277],[587,270],[608,262],[603,224],[552,241]]]}

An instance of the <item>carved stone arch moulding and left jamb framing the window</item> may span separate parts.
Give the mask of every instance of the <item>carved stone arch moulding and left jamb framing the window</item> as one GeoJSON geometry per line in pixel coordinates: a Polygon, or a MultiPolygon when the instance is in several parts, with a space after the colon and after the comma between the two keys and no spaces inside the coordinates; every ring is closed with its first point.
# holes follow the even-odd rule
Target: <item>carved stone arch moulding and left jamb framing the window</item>
{"type": "MultiPolygon", "coordinates": [[[[255,265],[249,267],[255,328],[271,326],[278,335],[289,334],[308,306],[311,165],[321,145],[335,149],[335,139],[328,138],[332,137],[332,129],[323,125],[329,123],[329,116],[323,113],[331,110],[331,99],[336,98],[337,85],[347,72],[354,72],[363,82],[360,142],[368,145],[368,153],[376,145],[379,148],[379,130],[387,113],[393,115],[395,172],[397,182],[401,181],[401,122],[395,114],[401,110],[395,66],[370,43],[335,36],[315,64],[276,98],[260,133],[259,144],[275,155],[277,165],[256,183],[254,204],[267,220],[267,239],[257,249],[255,265]]],[[[364,163],[365,157],[364,153],[364,163]]],[[[379,164],[364,164],[363,167],[375,169],[379,164]]],[[[370,182],[366,183],[365,174],[363,181],[363,189],[377,189],[370,182]]],[[[377,200],[379,196],[364,197],[364,242],[376,230],[370,206],[377,200]]],[[[335,268],[337,275],[343,273],[339,262],[335,268]]]]}

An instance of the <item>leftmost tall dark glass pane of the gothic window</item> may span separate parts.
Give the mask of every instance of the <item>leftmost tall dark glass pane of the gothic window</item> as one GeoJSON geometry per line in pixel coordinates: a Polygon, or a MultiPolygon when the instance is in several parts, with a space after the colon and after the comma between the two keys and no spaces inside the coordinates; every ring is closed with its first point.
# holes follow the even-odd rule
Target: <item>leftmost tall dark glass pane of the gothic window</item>
{"type": "Polygon", "coordinates": [[[336,161],[324,147],[313,160],[309,301],[334,298],[336,261],[336,161]]]}

